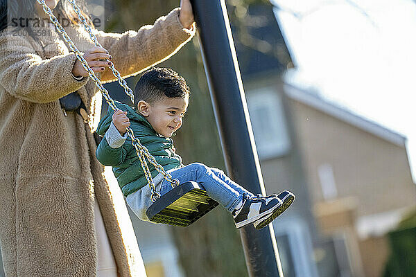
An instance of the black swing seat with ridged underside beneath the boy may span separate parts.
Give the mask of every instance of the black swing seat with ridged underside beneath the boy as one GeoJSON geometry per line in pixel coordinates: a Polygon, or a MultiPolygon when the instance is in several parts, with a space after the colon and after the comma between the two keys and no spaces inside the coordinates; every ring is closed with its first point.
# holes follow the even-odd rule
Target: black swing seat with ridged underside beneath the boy
{"type": "Polygon", "coordinates": [[[187,181],[157,199],[146,211],[152,222],[186,227],[213,208],[218,202],[195,181],[187,181]]]}

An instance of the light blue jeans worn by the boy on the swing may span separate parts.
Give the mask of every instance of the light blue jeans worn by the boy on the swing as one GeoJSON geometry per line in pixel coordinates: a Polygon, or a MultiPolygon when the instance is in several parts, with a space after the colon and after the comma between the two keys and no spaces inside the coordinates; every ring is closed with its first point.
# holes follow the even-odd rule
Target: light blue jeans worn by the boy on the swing
{"type": "MultiPolygon", "coordinates": [[[[254,196],[232,179],[229,179],[222,170],[209,168],[202,163],[191,163],[183,168],[169,171],[169,173],[173,179],[178,179],[180,184],[187,181],[196,181],[205,188],[209,197],[223,205],[230,213],[234,211],[244,195],[254,196]]],[[[164,195],[171,189],[171,183],[164,179],[160,186],[160,195],[164,195]]]]}

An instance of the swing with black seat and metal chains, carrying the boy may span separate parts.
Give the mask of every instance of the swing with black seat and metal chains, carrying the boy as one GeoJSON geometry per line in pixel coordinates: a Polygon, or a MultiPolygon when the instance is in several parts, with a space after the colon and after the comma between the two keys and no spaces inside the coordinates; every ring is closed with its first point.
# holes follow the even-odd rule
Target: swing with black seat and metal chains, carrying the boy
{"type": "MultiPolygon", "coordinates": [[[[92,39],[96,46],[101,46],[96,38],[96,35],[92,32],[91,27],[87,24],[87,19],[84,17],[83,13],[81,12],[80,8],[76,5],[74,0],[68,0],[71,3],[73,10],[78,15],[83,27],[89,34],[89,37],[92,39]]],[[[43,7],[43,10],[49,15],[51,22],[55,25],[58,32],[62,35],[71,51],[73,51],[78,60],[83,64],[84,69],[88,72],[88,75],[92,80],[94,80],[96,87],[101,91],[105,101],[108,105],[116,111],[116,105],[114,104],[114,100],[110,97],[107,89],[103,87],[101,81],[96,77],[94,71],[89,67],[87,61],[84,59],[83,54],[80,53],[78,48],[76,48],[75,44],[73,44],[71,38],[67,35],[64,28],[58,21],[58,19],[53,15],[52,10],[46,5],[44,0],[37,0],[43,7]]],[[[114,68],[114,65],[110,66],[113,75],[117,78],[117,81],[124,88],[125,93],[130,96],[130,100],[134,102],[134,96],[132,93],[132,89],[128,87],[127,82],[121,78],[119,71],[114,68]]],[[[218,202],[211,199],[206,191],[195,182],[187,182],[184,184],[179,184],[177,179],[173,179],[171,175],[164,170],[162,166],[157,163],[155,158],[148,152],[148,150],[141,145],[139,139],[135,138],[135,134],[130,127],[126,129],[128,136],[132,140],[132,145],[135,147],[137,157],[139,157],[141,168],[143,168],[144,175],[146,180],[148,181],[148,186],[150,187],[151,195],[150,198],[152,199],[153,204],[148,208],[147,215],[149,219],[156,223],[164,223],[170,224],[175,226],[189,226],[196,220],[200,219],[203,215],[211,211],[213,208],[218,206],[218,202]],[[147,163],[151,163],[155,166],[156,170],[162,173],[164,179],[171,183],[173,190],[166,195],[160,195],[157,193],[155,184],[153,183],[152,175],[150,174],[150,170],[148,168],[147,163]]]]}

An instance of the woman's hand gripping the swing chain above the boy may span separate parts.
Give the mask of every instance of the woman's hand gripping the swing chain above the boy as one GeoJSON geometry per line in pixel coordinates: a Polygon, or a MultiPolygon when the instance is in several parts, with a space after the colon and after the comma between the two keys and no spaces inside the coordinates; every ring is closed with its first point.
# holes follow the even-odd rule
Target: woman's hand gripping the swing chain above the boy
{"type": "MultiPolygon", "coordinates": [[[[110,67],[112,62],[112,56],[102,47],[94,46],[93,48],[86,51],[83,55],[87,64],[94,72],[103,72],[106,67],[110,67]],[[103,61],[107,60],[107,61],[103,61]]],[[[88,72],[84,69],[83,64],[77,59],[73,64],[72,74],[75,77],[88,76],[88,72]]]]}

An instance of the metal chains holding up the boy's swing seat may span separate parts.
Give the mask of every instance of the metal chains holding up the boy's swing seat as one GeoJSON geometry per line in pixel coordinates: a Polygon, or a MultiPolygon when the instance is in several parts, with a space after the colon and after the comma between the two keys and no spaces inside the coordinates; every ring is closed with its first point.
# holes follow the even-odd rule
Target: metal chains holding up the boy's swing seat
{"type": "MultiPolygon", "coordinates": [[[[87,30],[87,33],[89,33],[89,36],[92,39],[92,41],[94,42],[94,44],[96,44],[96,46],[101,46],[101,44],[98,43],[98,40],[97,40],[96,36],[94,35],[94,33],[92,33],[91,28],[88,26],[87,20],[81,14],[80,9],[78,8],[78,6],[76,6],[76,3],[73,0],[69,0],[69,2],[73,6],[74,11],[76,12],[78,17],[80,18],[81,22],[83,23],[83,26],[84,26],[85,30],[87,30]]],[[[53,12],[52,12],[51,8],[49,8],[49,6],[46,5],[45,0],[37,0],[37,3],[40,3],[40,5],[42,5],[42,8],[43,8],[44,12],[46,12],[46,14],[49,15],[49,18],[51,19],[51,22],[55,25],[55,28],[62,35],[62,38],[64,39],[64,41],[67,42],[67,45],[69,45],[69,48],[71,48],[71,51],[73,51],[73,53],[75,53],[77,59],[81,62],[81,64],[83,64],[84,69],[88,72],[89,77],[92,78],[92,80],[94,80],[94,82],[96,84],[96,87],[98,87],[98,89],[101,91],[101,94],[105,98],[105,101],[108,103],[108,105],[112,108],[113,111],[116,111],[117,108],[116,108],[116,105],[114,104],[114,100],[112,100],[112,98],[110,97],[110,94],[108,93],[107,89],[105,89],[105,87],[103,87],[103,84],[101,84],[100,79],[98,79],[96,77],[94,71],[91,69],[91,67],[89,67],[87,61],[83,57],[83,54],[80,53],[78,48],[76,48],[75,44],[73,44],[71,38],[68,36],[67,32],[65,32],[64,28],[59,23],[58,19],[55,17],[55,15],[53,15],[53,12]]],[[[128,96],[130,96],[130,99],[132,100],[132,102],[134,102],[134,97],[133,97],[133,94],[132,94],[132,90],[128,87],[125,80],[123,80],[123,78],[121,78],[121,75],[120,75],[119,71],[117,71],[114,68],[114,65],[111,66],[111,69],[112,69],[113,75],[117,78],[117,80],[119,80],[119,83],[121,84],[121,86],[124,87],[125,93],[127,93],[128,96]]],[[[169,181],[171,183],[173,188],[175,188],[176,186],[179,186],[179,181],[177,179],[173,179],[172,176],[168,172],[166,172],[164,170],[164,168],[161,165],[159,165],[159,163],[157,163],[155,157],[153,157],[150,154],[148,149],[146,147],[144,147],[143,145],[141,145],[139,139],[135,138],[135,134],[133,133],[133,130],[130,127],[126,128],[126,132],[127,132],[128,136],[130,137],[130,139],[132,140],[132,145],[136,150],[136,154],[137,154],[137,157],[139,157],[141,168],[143,168],[144,175],[145,175],[146,180],[148,182],[148,186],[150,187],[150,192],[151,192],[150,199],[152,199],[152,201],[155,202],[157,199],[160,198],[160,194],[157,193],[157,191],[156,191],[155,184],[153,183],[152,175],[151,175],[150,170],[148,168],[148,164],[147,164],[146,159],[155,167],[155,169],[158,172],[160,172],[163,175],[164,179],[166,179],[167,181],[169,181]]]]}

